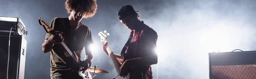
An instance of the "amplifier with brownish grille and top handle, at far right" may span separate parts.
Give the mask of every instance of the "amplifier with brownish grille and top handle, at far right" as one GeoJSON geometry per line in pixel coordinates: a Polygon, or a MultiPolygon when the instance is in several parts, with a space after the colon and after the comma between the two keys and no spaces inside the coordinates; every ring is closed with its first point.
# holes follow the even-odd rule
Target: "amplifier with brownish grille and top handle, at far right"
{"type": "Polygon", "coordinates": [[[256,79],[256,51],[209,53],[209,79],[256,79]]]}

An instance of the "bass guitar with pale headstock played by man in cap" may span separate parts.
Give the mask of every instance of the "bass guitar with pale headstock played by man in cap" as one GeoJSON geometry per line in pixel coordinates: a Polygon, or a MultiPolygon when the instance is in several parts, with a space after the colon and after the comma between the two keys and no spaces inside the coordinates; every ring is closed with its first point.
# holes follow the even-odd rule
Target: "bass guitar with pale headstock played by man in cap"
{"type": "MultiPolygon", "coordinates": [[[[104,41],[107,40],[107,37],[109,36],[109,33],[106,30],[103,29],[102,31],[99,32],[98,35],[101,38],[101,42],[104,42],[104,41]]],[[[111,60],[113,62],[113,65],[114,65],[114,67],[116,69],[116,72],[118,73],[120,71],[120,68],[121,68],[122,65],[121,65],[121,63],[119,63],[117,61],[116,56],[114,55],[114,53],[111,50],[110,46],[108,44],[106,44],[105,46],[106,46],[108,54],[109,54],[109,56],[110,56],[110,58],[111,58],[111,60]]],[[[124,58],[123,62],[125,62],[125,60],[127,60],[127,59],[130,59],[129,56],[126,53],[124,53],[122,55],[123,55],[123,58],[124,58]]],[[[135,68],[135,67],[131,67],[129,70],[130,70],[129,73],[126,74],[124,77],[119,76],[119,74],[118,74],[116,76],[116,78],[113,78],[113,79],[143,79],[143,74],[140,71],[140,69],[135,68]]]]}

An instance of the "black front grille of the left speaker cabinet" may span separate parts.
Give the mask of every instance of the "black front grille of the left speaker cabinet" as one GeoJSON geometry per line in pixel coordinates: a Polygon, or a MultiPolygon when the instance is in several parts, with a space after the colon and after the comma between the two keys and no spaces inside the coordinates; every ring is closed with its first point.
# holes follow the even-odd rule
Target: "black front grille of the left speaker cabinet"
{"type": "MultiPolygon", "coordinates": [[[[18,57],[20,50],[20,38],[11,37],[10,59],[9,59],[9,79],[17,78],[18,57]]],[[[8,62],[9,36],[0,36],[0,79],[6,79],[8,62]]]]}

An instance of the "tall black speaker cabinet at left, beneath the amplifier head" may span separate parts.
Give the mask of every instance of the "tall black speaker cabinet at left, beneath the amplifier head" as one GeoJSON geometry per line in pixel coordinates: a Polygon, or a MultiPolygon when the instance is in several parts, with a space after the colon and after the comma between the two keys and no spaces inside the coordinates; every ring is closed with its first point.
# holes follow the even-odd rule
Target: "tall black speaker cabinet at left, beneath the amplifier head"
{"type": "Polygon", "coordinates": [[[26,43],[22,35],[0,34],[0,79],[7,78],[7,64],[9,54],[8,79],[24,79],[26,43]]]}

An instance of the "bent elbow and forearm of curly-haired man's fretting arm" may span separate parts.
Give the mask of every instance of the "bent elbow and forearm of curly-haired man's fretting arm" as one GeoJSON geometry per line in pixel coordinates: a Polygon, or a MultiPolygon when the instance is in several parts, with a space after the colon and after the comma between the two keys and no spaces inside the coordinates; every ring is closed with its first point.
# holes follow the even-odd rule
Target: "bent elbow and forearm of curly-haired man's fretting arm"
{"type": "Polygon", "coordinates": [[[52,50],[53,45],[54,45],[54,43],[49,42],[48,40],[45,40],[42,45],[42,50],[44,51],[44,53],[47,53],[52,50]]]}

